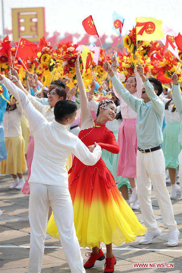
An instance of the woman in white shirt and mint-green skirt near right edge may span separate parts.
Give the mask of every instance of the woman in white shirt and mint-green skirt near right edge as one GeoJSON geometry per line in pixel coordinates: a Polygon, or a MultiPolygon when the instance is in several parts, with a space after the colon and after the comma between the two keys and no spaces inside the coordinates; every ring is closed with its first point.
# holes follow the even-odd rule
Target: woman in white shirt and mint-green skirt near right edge
{"type": "Polygon", "coordinates": [[[163,132],[163,153],[166,163],[166,169],[169,170],[169,177],[171,180],[172,190],[170,198],[175,199],[180,187],[176,184],[176,169],[179,166],[178,155],[181,151],[181,145],[178,142],[180,132],[180,115],[176,110],[176,106],[172,99],[161,97],[160,99],[165,103],[164,118],[166,126],[163,132]]]}

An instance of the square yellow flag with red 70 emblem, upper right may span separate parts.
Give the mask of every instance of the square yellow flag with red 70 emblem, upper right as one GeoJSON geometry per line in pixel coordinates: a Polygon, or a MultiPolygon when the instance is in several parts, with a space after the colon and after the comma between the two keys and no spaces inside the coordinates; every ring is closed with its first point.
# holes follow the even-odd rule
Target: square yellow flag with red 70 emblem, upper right
{"type": "Polygon", "coordinates": [[[136,41],[155,41],[163,37],[162,21],[153,17],[136,17],[136,41]]]}

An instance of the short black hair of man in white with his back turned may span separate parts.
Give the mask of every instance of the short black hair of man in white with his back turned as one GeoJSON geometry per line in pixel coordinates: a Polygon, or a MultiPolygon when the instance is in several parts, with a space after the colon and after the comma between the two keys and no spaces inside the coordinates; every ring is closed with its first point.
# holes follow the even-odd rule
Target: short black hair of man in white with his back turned
{"type": "Polygon", "coordinates": [[[76,103],[72,100],[59,100],[54,106],[54,116],[56,120],[64,120],[71,118],[73,113],[77,110],[76,103]]]}

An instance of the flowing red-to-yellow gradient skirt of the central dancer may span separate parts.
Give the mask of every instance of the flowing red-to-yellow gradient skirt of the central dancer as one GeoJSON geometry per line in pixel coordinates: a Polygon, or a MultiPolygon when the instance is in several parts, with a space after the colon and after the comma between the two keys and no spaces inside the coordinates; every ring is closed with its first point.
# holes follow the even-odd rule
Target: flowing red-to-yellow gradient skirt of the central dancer
{"type": "MultiPolygon", "coordinates": [[[[98,162],[85,169],[78,164],[76,170],[79,170],[79,174],[74,172],[74,164],[69,177],[76,235],[79,244],[90,249],[99,247],[100,242],[128,244],[137,235],[146,232],[120,194],[103,160],[98,162]]],[[[47,225],[47,233],[59,238],[53,214],[47,225]]]]}

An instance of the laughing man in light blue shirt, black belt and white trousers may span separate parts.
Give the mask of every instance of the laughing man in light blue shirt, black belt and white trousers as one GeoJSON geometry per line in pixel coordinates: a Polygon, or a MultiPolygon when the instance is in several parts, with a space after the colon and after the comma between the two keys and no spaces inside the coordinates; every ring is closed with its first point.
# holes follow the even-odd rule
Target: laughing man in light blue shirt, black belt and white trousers
{"type": "Polygon", "coordinates": [[[138,201],[144,224],[147,227],[145,237],[139,243],[149,244],[161,234],[153,214],[150,199],[152,181],[164,225],[169,229],[167,245],[169,247],[176,246],[180,233],[177,230],[173,207],[166,188],[165,160],[160,146],[163,142],[162,123],[165,108],[164,103],[158,97],[162,93],[162,85],[158,79],[147,79],[143,73],[143,66],[137,64],[137,72],[143,81],[141,99],[139,99],[124,88],[107,61],[104,64],[104,69],[109,72],[116,92],[137,113],[136,178],[138,201]]]}

